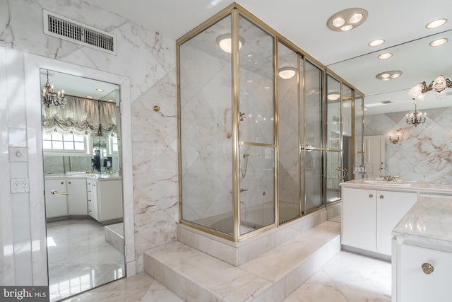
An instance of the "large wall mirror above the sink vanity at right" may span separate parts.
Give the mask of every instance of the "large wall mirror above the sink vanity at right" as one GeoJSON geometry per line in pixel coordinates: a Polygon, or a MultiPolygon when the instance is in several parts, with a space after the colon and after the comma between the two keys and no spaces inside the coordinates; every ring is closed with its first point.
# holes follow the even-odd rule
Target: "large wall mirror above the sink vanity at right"
{"type": "MultiPolygon", "coordinates": [[[[446,88],[441,97],[434,91],[425,93],[424,100],[417,100],[416,106],[417,110],[427,112],[426,121],[417,125],[407,122],[407,115],[415,111],[408,93],[413,86],[422,81],[429,85],[439,75],[452,79],[452,30],[450,22],[445,26],[448,30],[439,28],[434,35],[393,47],[381,45],[377,51],[328,66],[365,94],[364,138],[382,138],[385,154],[379,167],[386,175],[400,175],[405,180],[452,180],[452,167],[447,159],[452,151],[449,143],[452,89],[446,88]],[[448,42],[430,46],[430,42],[438,39],[448,42]],[[379,59],[381,54],[392,56],[379,59]],[[378,74],[388,71],[401,73],[388,81],[377,79],[378,74]]],[[[367,155],[364,151],[364,156],[367,155]]],[[[381,173],[376,167],[371,174],[381,173]]]]}

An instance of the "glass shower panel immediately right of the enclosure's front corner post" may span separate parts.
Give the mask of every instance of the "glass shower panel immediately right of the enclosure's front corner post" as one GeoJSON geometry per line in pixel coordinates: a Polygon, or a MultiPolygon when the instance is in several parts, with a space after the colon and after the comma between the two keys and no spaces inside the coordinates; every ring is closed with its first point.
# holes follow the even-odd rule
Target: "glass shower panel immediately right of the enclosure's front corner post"
{"type": "Polygon", "coordinates": [[[275,223],[273,37],[239,17],[240,236],[275,223]]]}

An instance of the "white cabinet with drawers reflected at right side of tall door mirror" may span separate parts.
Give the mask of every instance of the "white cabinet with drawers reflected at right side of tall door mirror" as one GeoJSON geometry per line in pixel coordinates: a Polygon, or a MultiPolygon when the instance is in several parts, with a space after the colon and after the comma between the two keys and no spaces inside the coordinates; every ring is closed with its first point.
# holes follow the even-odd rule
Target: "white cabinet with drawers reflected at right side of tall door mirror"
{"type": "Polygon", "coordinates": [[[122,181],[115,178],[87,178],[88,214],[97,221],[121,219],[122,181]]]}

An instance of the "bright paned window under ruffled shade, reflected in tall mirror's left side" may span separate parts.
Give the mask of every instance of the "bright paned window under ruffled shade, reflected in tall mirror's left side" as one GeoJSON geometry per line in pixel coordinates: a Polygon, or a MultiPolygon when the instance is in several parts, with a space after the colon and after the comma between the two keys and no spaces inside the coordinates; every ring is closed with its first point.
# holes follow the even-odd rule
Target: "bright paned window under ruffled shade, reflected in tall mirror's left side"
{"type": "Polygon", "coordinates": [[[87,141],[89,141],[88,135],[61,134],[59,132],[42,134],[42,147],[47,152],[89,153],[87,141]]]}

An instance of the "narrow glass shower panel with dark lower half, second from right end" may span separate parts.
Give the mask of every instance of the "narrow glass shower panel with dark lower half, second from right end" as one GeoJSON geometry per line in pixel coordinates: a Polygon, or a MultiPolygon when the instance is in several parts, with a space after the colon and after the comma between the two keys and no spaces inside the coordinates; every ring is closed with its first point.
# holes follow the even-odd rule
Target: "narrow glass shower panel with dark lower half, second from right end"
{"type": "Polygon", "coordinates": [[[353,140],[352,140],[352,89],[343,86],[342,96],[342,131],[343,131],[343,163],[342,180],[352,179],[353,140]]]}

